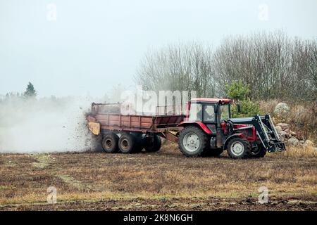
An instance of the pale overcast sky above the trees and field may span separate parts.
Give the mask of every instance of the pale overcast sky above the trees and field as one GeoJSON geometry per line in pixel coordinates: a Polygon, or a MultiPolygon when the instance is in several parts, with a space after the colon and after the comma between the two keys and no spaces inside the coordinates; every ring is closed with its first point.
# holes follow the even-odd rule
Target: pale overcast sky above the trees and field
{"type": "Polygon", "coordinates": [[[276,29],[316,39],[317,1],[0,0],[0,94],[103,96],[148,49],[276,29]]]}

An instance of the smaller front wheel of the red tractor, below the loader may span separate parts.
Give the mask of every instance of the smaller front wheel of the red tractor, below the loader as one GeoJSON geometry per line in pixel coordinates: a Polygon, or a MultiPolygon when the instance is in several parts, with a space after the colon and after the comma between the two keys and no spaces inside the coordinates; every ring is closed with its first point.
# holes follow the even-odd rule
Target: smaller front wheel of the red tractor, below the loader
{"type": "Polygon", "coordinates": [[[244,139],[234,138],[228,142],[227,150],[230,158],[242,159],[249,156],[251,153],[251,146],[249,145],[249,142],[244,139]],[[236,144],[238,146],[235,146],[236,144]],[[235,148],[237,148],[237,150],[235,150],[235,148]]]}

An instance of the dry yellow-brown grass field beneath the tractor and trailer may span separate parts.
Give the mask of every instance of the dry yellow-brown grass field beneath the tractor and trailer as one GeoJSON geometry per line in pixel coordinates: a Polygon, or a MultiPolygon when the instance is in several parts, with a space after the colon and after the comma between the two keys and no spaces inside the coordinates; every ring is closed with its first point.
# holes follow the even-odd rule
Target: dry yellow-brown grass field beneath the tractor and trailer
{"type": "Polygon", "coordinates": [[[309,155],[311,150],[291,152],[258,160],[230,160],[225,153],[220,158],[185,158],[174,144],[166,143],[159,153],[151,154],[1,155],[0,205],[48,207],[49,186],[57,188],[61,205],[141,201],[136,199],[163,204],[176,198],[189,199],[189,203],[196,203],[197,198],[218,198],[223,203],[251,198],[256,202],[260,186],[267,186],[272,198],[316,203],[316,155],[309,155]],[[35,166],[41,162],[44,167],[35,166]]]}

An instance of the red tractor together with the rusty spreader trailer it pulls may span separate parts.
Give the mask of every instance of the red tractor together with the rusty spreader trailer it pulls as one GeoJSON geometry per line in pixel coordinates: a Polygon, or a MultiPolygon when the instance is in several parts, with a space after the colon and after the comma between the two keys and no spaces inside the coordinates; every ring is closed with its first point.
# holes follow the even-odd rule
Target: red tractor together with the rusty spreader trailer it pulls
{"type": "Polygon", "coordinates": [[[193,98],[186,115],[122,115],[104,111],[106,104],[92,103],[87,116],[93,134],[103,136],[106,153],[155,152],[161,139],[178,143],[188,157],[217,156],[261,158],[266,152],[285,150],[270,115],[231,118],[230,99],[193,98]]]}

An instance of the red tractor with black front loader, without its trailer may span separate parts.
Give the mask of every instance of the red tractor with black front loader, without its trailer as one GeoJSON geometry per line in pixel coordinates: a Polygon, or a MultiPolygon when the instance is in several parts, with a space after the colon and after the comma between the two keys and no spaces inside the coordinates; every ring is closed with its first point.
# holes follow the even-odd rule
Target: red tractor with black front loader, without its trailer
{"type": "Polygon", "coordinates": [[[178,126],[178,144],[187,156],[220,155],[261,158],[266,152],[285,150],[270,115],[231,118],[230,99],[193,98],[178,126]]]}

